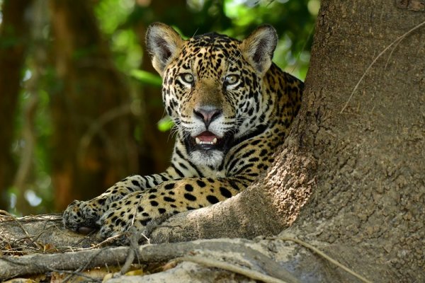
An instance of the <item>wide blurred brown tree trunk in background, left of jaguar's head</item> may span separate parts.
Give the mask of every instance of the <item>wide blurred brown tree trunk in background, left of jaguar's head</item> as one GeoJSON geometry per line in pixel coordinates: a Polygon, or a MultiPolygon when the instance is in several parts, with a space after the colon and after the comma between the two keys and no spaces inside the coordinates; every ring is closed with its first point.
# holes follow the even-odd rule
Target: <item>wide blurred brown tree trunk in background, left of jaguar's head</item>
{"type": "Polygon", "coordinates": [[[137,172],[128,89],[90,2],[51,1],[58,83],[52,94],[55,204],[87,200],[137,172]],[[71,193],[72,192],[72,193],[71,193]]]}

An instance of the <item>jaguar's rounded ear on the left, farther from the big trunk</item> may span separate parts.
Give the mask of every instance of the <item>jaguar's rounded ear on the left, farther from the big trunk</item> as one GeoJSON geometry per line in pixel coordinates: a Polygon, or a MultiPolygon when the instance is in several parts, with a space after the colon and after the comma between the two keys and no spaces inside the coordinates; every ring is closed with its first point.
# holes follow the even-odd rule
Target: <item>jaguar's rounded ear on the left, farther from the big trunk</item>
{"type": "Polygon", "coordinates": [[[152,23],[147,28],[147,51],[152,56],[152,66],[161,76],[171,59],[179,54],[182,44],[176,30],[165,23],[152,23]]]}

